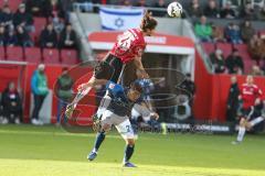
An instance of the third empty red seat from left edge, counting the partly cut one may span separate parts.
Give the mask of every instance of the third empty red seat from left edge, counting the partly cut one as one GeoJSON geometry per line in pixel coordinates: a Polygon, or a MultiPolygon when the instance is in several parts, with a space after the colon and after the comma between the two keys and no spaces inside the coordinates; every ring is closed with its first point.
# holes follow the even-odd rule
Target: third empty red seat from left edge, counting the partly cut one
{"type": "Polygon", "coordinates": [[[25,47],[24,54],[28,63],[39,64],[42,61],[41,50],[39,47],[25,47]]]}

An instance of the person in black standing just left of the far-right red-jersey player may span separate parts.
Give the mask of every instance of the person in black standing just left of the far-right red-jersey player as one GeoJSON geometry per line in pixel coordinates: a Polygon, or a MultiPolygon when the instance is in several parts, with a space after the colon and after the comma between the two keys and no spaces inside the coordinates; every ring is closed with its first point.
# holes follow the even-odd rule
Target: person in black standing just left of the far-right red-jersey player
{"type": "Polygon", "coordinates": [[[239,96],[240,96],[240,88],[237,84],[236,76],[231,77],[231,86],[229,91],[229,98],[226,101],[226,121],[235,123],[236,121],[236,112],[239,109],[239,96]]]}

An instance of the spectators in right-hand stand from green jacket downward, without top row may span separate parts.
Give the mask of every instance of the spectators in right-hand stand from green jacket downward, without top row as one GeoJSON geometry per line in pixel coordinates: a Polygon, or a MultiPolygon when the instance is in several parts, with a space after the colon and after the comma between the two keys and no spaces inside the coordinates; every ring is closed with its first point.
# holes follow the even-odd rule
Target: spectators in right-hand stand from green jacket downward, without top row
{"type": "MultiPolygon", "coordinates": [[[[252,59],[255,61],[254,68],[259,67],[265,69],[263,59],[265,58],[265,37],[262,33],[258,33],[252,28],[252,22],[245,20],[242,24],[229,23],[224,29],[216,26],[213,23],[208,23],[206,16],[202,15],[200,22],[194,25],[194,32],[201,42],[208,43],[227,43],[232,46],[237,44],[247,45],[247,51],[252,59]]],[[[222,56],[220,48],[210,55],[211,62],[214,66],[215,73],[229,73],[229,74],[244,74],[244,64],[242,57],[236,51],[233,50],[232,56],[235,54],[236,62],[230,62],[233,59],[226,59],[222,56]],[[234,68],[236,67],[236,68],[234,68]],[[240,69],[237,69],[240,68],[240,69]],[[234,72],[236,69],[236,72],[234,72]]]]}

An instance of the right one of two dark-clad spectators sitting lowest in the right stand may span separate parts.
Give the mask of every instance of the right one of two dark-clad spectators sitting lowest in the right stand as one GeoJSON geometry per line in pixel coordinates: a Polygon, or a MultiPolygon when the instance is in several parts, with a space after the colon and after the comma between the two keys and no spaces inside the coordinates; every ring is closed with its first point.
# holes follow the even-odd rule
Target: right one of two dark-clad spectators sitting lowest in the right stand
{"type": "Polygon", "coordinates": [[[225,59],[225,66],[229,69],[229,74],[242,75],[244,73],[244,63],[236,48],[233,48],[231,55],[225,59]]]}

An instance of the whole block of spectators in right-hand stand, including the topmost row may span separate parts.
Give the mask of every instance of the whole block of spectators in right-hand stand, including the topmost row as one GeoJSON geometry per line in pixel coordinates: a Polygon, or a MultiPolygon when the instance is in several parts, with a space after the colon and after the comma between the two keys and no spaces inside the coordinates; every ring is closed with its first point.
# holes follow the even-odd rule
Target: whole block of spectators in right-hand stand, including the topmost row
{"type": "MultiPolygon", "coordinates": [[[[194,24],[194,32],[202,43],[227,43],[232,45],[233,52],[229,57],[222,55],[223,51],[216,48],[210,54],[213,69],[216,74],[244,74],[244,62],[241,53],[234,45],[247,45],[247,51],[252,59],[254,75],[263,75],[265,70],[265,37],[262,31],[252,26],[252,20],[263,20],[264,9],[253,9],[251,3],[246,3],[240,11],[232,8],[231,1],[226,1],[223,9],[219,9],[215,0],[209,0],[209,4],[202,10],[198,0],[192,1],[188,10],[191,16],[200,19],[194,24]],[[222,28],[214,22],[209,22],[208,18],[235,19],[241,18],[243,22],[227,21],[226,26],[222,28]],[[233,59],[234,58],[234,59],[233,59]]],[[[247,73],[250,74],[250,73],[247,73]]]]}

